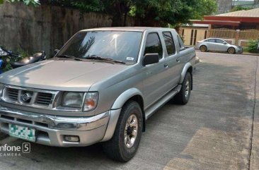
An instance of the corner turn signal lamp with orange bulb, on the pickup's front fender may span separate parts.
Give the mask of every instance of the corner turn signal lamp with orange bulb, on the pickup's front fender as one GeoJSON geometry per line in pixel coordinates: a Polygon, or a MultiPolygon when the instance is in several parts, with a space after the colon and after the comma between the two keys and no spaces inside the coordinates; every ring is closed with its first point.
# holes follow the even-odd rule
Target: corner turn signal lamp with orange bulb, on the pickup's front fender
{"type": "Polygon", "coordinates": [[[96,109],[98,99],[98,92],[86,92],[86,98],[84,100],[84,111],[92,111],[93,109],[96,109]]]}

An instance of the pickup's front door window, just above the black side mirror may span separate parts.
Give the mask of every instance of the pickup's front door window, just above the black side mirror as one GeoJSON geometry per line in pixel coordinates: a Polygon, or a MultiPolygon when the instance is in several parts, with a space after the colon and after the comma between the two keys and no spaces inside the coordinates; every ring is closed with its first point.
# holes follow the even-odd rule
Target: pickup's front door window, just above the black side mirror
{"type": "Polygon", "coordinates": [[[158,33],[149,33],[146,37],[146,48],[144,54],[147,53],[158,53],[159,59],[163,57],[163,47],[159,38],[158,33]]]}

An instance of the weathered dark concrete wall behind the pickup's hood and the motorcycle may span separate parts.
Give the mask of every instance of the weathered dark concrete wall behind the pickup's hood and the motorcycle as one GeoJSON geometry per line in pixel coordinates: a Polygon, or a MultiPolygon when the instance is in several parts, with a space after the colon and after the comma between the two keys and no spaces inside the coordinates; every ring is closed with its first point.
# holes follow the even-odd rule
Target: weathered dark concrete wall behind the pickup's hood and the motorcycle
{"type": "MultiPolygon", "coordinates": [[[[81,14],[60,6],[35,8],[21,3],[0,5],[0,20],[0,46],[25,49],[30,54],[44,50],[49,56],[79,30],[112,25],[111,16],[105,14],[81,14]]],[[[127,25],[134,25],[131,18],[127,21],[127,25]]]]}

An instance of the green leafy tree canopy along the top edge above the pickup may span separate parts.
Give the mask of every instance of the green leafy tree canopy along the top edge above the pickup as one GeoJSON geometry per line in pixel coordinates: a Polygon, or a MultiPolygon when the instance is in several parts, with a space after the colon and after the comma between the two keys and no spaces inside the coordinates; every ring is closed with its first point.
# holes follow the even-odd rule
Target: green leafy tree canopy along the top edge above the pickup
{"type": "MultiPolygon", "coordinates": [[[[39,3],[38,0],[26,2],[39,3]]],[[[167,27],[201,19],[217,10],[215,0],[41,0],[40,3],[72,7],[81,13],[106,13],[113,20],[112,26],[126,26],[128,16],[132,16],[137,26],[167,27]]]]}

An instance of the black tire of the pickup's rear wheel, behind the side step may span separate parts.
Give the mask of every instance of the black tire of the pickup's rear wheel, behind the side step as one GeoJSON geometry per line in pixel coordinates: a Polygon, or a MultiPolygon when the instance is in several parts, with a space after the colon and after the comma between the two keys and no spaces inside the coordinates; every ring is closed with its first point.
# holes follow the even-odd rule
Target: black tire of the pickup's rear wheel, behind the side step
{"type": "Polygon", "coordinates": [[[178,104],[187,104],[190,99],[190,92],[192,87],[192,75],[188,72],[185,75],[185,79],[183,80],[183,85],[180,89],[180,92],[178,92],[177,95],[175,95],[175,102],[178,104]],[[188,84],[188,85],[187,85],[188,84]],[[186,90],[188,90],[188,95],[185,94],[186,90]]]}

